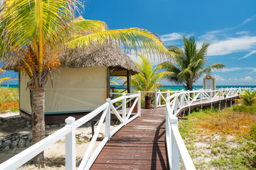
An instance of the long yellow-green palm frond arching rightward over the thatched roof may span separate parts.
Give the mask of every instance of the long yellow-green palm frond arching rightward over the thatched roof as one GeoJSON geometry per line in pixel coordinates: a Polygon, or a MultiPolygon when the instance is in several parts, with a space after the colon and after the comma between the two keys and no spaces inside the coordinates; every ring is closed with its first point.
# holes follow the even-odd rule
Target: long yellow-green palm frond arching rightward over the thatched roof
{"type": "Polygon", "coordinates": [[[70,42],[66,45],[71,48],[88,47],[95,45],[102,45],[105,41],[113,40],[130,49],[133,47],[134,51],[141,51],[147,55],[159,57],[172,57],[172,54],[164,47],[158,36],[150,33],[148,30],[141,28],[127,28],[120,30],[105,30],[97,33],[91,33],[70,42]],[[139,49],[138,49],[139,47],[139,49]]]}

